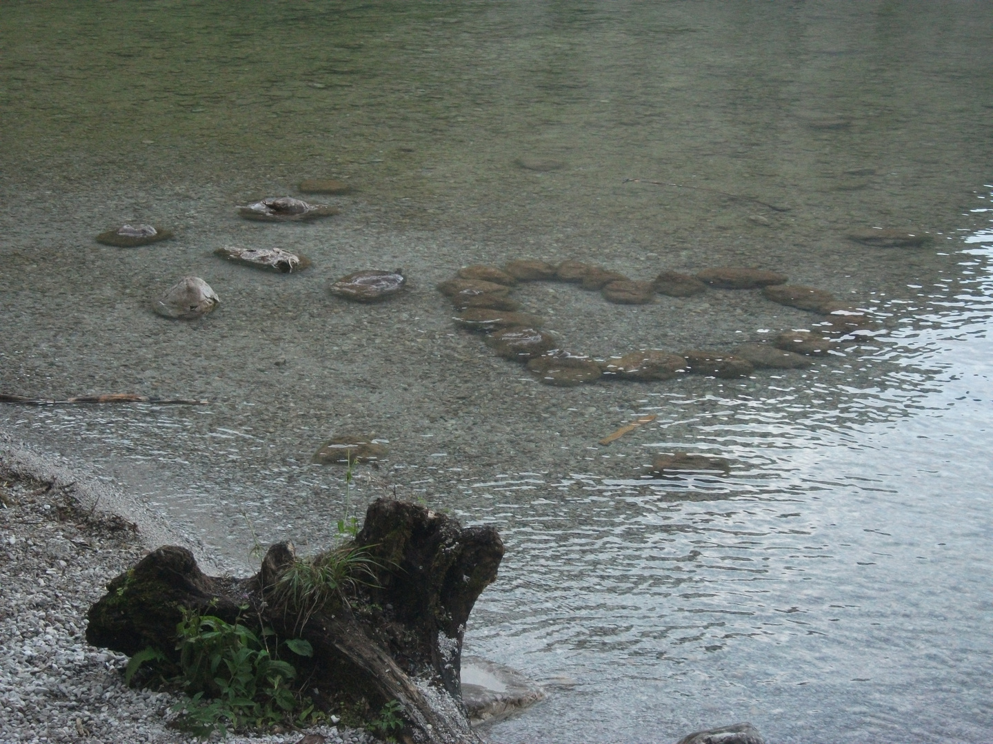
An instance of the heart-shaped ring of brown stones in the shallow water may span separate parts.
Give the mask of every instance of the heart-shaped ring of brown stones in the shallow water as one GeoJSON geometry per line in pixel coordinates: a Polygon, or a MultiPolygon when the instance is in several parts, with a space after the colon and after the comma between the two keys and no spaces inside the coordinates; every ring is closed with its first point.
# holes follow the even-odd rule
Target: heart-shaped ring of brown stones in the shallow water
{"type": "Polygon", "coordinates": [[[438,285],[438,291],[459,310],[457,325],[486,334],[497,356],[527,365],[547,385],[569,387],[600,379],[668,380],[679,374],[719,378],[748,377],[756,368],[788,369],[810,364],[811,356],[829,353],[853,333],[870,326],[861,310],[837,302],[829,293],[786,284],[782,274],[763,269],[705,269],[695,276],[665,271],[651,282],[638,282],[602,266],[578,261],[552,265],[521,259],[497,266],[467,266],[456,277],[438,285]],[[596,358],[559,347],[557,339],[541,329],[541,318],[521,312],[509,295],[521,282],[565,282],[599,291],[609,303],[645,305],[655,295],[691,297],[717,290],[761,290],[774,303],[821,315],[813,330],[785,330],[771,341],[750,343],[732,351],[688,349],[673,354],[636,349],[618,357],[596,358]]]}

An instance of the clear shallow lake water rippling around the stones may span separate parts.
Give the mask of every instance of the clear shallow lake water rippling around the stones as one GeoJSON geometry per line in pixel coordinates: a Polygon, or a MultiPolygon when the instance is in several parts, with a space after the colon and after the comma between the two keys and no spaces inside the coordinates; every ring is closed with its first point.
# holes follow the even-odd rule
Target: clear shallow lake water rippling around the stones
{"type": "MultiPolygon", "coordinates": [[[[498,742],[675,740],[751,719],[776,741],[985,741],[991,489],[983,3],[32,4],[5,8],[2,389],[211,399],[0,410],[247,564],[252,531],[317,547],[343,513],[341,431],[389,439],[361,505],[423,498],[508,552],[470,650],[552,684],[498,742]],[[279,12],[276,13],[275,11],[279,12]],[[519,159],[562,163],[525,170],[519,159]],[[313,225],[232,205],[335,176],[313,225]],[[713,191],[624,183],[641,178],[713,191]],[[763,219],[754,219],[762,217],[763,219]],[[178,238],[121,251],[124,220],[178,238]],[[851,227],[930,232],[869,249],[851,227]],[[213,258],[277,242],[299,276],[213,258]],[[807,371],[549,389],[455,331],[460,265],[578,257],[779,268],[888,333],[807,371]],[[387,305],[327,282],[403,266],[387,305]],[[222,305],[148,300],[185,273],[222,305]],[[610,447],[637,415],[657,419],[610,447]],[[656,451],[734,459],[645,481],[656,451]]],[[[555,290],[550,292],[549,290],[555,290]]],[[[808,320],[752,294],[649,308],[517,295],[577,350],[678,350],[808,320]]]]}

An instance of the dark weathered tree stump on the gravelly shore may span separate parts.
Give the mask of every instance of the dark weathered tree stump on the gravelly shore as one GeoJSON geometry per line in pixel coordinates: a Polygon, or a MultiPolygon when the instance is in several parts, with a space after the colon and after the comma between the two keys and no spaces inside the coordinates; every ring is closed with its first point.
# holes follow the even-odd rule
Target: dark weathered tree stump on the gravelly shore
{"type": "Polygon", "coordinates": [[[374,561],[374,577],[303,627],[274,601],[280,576],[296,560],[291,544],[272,546],[250,578],[208,576],[186,549],[159,548],[110,581],[89,609],[86,640],[129,656],[157,648],[175,659],[184,608],[264,624],[280,638],[304,638],[314,647],[302,677],[309,676],[308,688],[325,709],[364,700],[375,711],[397,700],[404,738],[480,741],[462,704],[460,660],[469,613],[497,578],[503,557],[497,531],[463,529],[417,504],[378,499],[355,545],[374,561]]]}

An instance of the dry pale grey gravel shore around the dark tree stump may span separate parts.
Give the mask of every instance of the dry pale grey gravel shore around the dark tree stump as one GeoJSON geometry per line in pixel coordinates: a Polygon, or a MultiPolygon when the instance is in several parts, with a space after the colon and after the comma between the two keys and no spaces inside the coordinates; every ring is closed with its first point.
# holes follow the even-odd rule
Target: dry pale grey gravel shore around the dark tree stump
{"type": "MultiPolygon", "coordinates": [[[[72,483],[0,464],[0,741],[176,744],[167,692],[125,686],[127,657],[86,644],[85,613],[104,584],[141,558],[138,528],[83,508],[72,483]]],[[[372,741],[363,731],[231,736],[229,742],[372,741]]]]}

